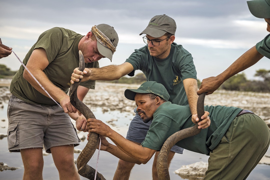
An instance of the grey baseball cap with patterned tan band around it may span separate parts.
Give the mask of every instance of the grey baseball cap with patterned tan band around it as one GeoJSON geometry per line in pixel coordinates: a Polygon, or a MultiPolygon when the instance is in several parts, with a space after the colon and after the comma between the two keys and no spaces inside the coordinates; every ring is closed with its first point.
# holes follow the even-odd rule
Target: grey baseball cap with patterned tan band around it
{"type": "MultiPolygon", "coordinates": [[[[113,46],[116,47],[118,44],[118,35],[114,28],[107,24],[99,24],[96,26],[110,41],[113,43],[113,46]]],[[[98,37],[96,37],[98,38],[98,37]]],[[[102,45],[100,42],[97,41],[97,49],[102,56],[109,58],[112,62],[113,52],[108,47],[102,45]]]]}

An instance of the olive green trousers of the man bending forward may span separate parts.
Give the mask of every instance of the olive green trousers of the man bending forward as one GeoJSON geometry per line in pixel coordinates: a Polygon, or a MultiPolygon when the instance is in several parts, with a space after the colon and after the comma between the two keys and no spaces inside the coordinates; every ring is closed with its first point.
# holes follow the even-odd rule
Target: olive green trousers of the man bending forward
{"type": "Polygon", "coordinates": [[[236,117],[210,152],[204,180],[242,180],[259,163],[270,143],[266,123],[254,114],[236,117]]]}

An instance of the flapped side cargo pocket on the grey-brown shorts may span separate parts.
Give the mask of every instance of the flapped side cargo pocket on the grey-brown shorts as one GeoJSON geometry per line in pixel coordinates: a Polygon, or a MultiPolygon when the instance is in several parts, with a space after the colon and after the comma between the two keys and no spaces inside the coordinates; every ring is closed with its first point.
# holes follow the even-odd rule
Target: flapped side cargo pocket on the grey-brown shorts
{"type": "Polygon", "coordinates": [[[12,122],[8,125],[8,149],[13,148],[19,144],[19,121],[12,122]]]}

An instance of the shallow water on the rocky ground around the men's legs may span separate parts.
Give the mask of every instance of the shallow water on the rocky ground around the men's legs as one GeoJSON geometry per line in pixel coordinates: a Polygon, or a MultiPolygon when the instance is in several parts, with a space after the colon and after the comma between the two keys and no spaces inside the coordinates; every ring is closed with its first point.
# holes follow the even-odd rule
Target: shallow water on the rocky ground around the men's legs
{"type": "MultiPolygon", "coordinates": [[[[7,105],[4,103],[4,108],[0,109],[0,133],[6,133],[8,127],[8,119],[6,116],[7,105]]],[[[104,122],[117,119],[113,121],[114,125],[110,127],[116,130],[118,133],[122,134],[124,137],[126,135],[129,122],[133,118],[133,113],[120,113],[120,111],[108,111],[102,113],[102,108],[94,108],[93,113],[97,119],[103,120],[104,122]]],[[[82,133],[80,133],[82,134],[82,133]]],[[[79,134],[79,135],[80,135],[79,134]]],[[[84,133],[87,136],[87,133],[84,133]]],[[[76,149],[83,149],[86,145],[86,140],[82,141],[79,146],[75,147],[76,149]]],[[[90,159],[88,164],[93,168],[96,167],[98,150],[96,150],[93,157],[90,159]]],[[[266,154],[270,154],[270,150],[266,154]]],[[[74,154],[77,159],[79,154],[74,154]]],[[[43,168],[43,178],[45,180],[50,179],[59,179],[58,171],[55,168],[53,163],[52,155],[43,156],[44,158],[44,168],[43,168]]],[[[181,180],[182,178],[177,174],[174,174],[174,171],[180,168],[182,165],[192,164],[198,161],[207,162],[208,156],[203,154],[198,154],[195,152],[184,150],[184,154],[176,154],[170,166],[170,178],[171,180],[181,180]]],[[[7,148],[7,138],[0,140],[0,162],[8,164],[10,167],[19,167],[19,169],[11,171],[5,170],[0,172],[0,179],[12,179],[19,180],[23,176],[23,164],[20,153],[9,152],[7,148]]],[[[98,172],[100,172],[107,180],[112,179],[114,171],[116,170],[118,163],[118,158],[109,154],[108,152],[101,151],[99,155],[98,162],[98,172]]],[[[130,176],[130,180],[149,180],[151,178],[151,168],[153,164],[153,158],[147,163],[142,165],[135,165],[130,176]]],[[[86,179],[81,177],[81,179],[86,179]]],[[[269,180],[270,179],[270,166],[258,164],[257,167],[251,172],[248,177],[248,180],[269,180]]]]}

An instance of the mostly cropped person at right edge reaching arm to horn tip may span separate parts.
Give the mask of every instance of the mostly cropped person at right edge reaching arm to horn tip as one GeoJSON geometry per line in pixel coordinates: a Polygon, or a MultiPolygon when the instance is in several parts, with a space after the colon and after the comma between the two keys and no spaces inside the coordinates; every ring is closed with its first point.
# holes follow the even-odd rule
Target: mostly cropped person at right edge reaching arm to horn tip
{"type": "MultiPolygon", "coordinates": [[[[264,18],[267,23],[266,30],[270,32],[270,0],[252,0],[247,1],[247,3],[250,12],[254,16],[257,18],[264,18]]],[[[207,92],[207,95],[212,94],[227,79],[254,65],[264,56],[270,59],[270,34],[240,56],[224,72],[215,77],[203,79],[200,90],[197,91],[197,94],[204,92],[207,92]]]]}

